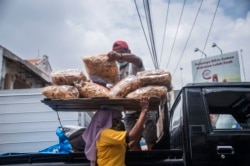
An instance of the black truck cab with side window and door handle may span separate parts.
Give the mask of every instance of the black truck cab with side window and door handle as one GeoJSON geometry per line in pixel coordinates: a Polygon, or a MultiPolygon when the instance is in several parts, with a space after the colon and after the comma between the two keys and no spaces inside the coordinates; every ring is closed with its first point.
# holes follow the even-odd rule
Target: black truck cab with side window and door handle
{"type": "Polygon", "coordinates": [[[170,149],[186,165],[250,163],[250,84],[188,84],[170,110],[170,149]]]}

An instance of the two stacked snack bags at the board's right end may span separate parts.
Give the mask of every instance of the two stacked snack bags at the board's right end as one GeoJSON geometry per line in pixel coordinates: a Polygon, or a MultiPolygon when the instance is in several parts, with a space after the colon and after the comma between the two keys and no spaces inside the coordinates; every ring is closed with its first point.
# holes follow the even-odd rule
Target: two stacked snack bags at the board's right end
{"type": "Polygon", "coordinates": [[[167,92],[171,87],[171,74],[164,70],[146,70],[138,72],[117,83],[111,90],[113,98],[139,99],[143,96],[159,97],[161,103],[167,99],[167,92]]]}

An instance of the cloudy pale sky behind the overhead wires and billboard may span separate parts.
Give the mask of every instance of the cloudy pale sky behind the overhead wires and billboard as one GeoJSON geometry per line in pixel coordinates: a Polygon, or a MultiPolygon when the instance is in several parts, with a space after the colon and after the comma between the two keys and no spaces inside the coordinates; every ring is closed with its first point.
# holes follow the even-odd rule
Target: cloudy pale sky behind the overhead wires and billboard
{"type": "MultiPolygon", "coordinates": [[[[142,0],[136,2],[149,40],[142,0]]],[[[173,74],[175,89],[192,82],[191,61],[202,55],[196,47],[220,55],[212,43],[223,53],[238,51],[242,80],[250,81],[249,0],[220,0],[217,12],[218,0],[203,0],[195,24],[201,0],[168,2],[149,4],[160,69],[173,74]]],[[[22,59],[48,55],[53,70],[85,71],[82,57],[109,52],[115,40],[127,41],[146,69],[155,69],[134,0],[0,0],[0,45],[22,59]]]]}

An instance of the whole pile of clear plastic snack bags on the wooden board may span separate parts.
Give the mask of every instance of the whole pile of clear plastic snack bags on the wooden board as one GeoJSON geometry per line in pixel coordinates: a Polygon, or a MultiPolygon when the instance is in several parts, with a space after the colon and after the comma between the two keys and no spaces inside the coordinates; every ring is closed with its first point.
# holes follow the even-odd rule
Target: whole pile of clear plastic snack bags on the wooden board
{"type": "Polygon", "coordinates": [[[87,76],[80,69],[52,71],[53,85],[42,89],[50,99],[76,98],[141,98],[159,97],[166,100],[171,87],[171,74],[164,70],[146,70],[119,81],[116,61],[106,54],[82,58],[87,76]],[[107,87],[106,85],[112,85],[107,87]]]}

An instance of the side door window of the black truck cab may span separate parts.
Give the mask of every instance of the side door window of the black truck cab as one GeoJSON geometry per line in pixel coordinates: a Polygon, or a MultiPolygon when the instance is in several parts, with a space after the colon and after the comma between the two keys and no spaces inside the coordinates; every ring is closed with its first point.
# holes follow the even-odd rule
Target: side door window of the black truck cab
{"type": "Polygon", "coordinates": [[[209,89],[205,99],[212,129],[250,129],[249,89],[209,89]]]}

